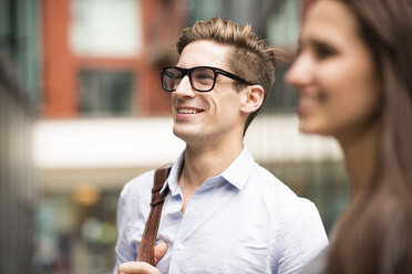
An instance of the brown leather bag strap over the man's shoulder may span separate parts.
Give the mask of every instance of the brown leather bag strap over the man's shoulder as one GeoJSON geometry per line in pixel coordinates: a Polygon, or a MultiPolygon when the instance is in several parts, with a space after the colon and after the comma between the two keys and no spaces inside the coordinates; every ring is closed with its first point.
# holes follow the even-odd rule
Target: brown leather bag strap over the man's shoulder
{"type": "Polygon", "coordinates": [[[172,165],[164,166],[155,171],[152,189],[152,209],[151,213],[148,214],[142,242],[137,252],[137,262],[146,262],[153,266],[155,265],[154,246],[156,244],[163,202],[167,196],[167,189],[163,192],[163,194],[161,194],[161,189],[167,179],[168,172],[171,171],[171,166],[172,165]]]}

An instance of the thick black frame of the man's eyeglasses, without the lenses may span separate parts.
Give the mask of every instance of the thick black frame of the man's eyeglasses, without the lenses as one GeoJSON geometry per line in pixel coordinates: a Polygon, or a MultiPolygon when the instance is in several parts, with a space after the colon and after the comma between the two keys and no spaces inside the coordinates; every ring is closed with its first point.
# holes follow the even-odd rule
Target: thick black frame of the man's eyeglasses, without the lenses
{"type": "MultiPolygon", "coordinates": [[[[192,86],[192,88],[195,89],[196,92],[199,92],[199,93],[208,93],[208,92],[210,92],[213,88],[215,88],[216,78],[217,78],[217,75],[218,75],[218,74],[222,74],[222,75],[224,75],[224,76],[226,76],[226,77],[229,77],[229,78],[231,78],[231,80],[235,80],[235,81],[237,81],[237,82],[240,82],[241,84],[245,84],[245,85],[255,85],[255,84],[253,84],[253,83],[250,83],[250,82],[244,80],[244,78],[240,77],[240,76],[237,76],[237,75],[235,75],[235,74],[233,74],[233,73],[230,73],[230,72],[227,72],[227,71],[225,71],[225,70],[222,70],[222,68],[218,68],[218,67],[215,67],[215,66],[206,66],[206,65],[202,65],[202,66],[194,66],[194,67],[192,67],[192,68],[183,68],[183,67],[179,67],[179,66],[169,65],[169,66],[164,66],[164,67],[162,67],[162,70],[161,70],[161,77],[162,77],[162,78],[161,78],[161,80],[162,80],[162,88],[163,88],[165,92],[171,92],[171,93],[175,92],[176,88],[174,88],[174,89],[166,89],[166,88],[164,87],[164,85],[163,85],[163,77],[164,77],[164,74],[165,74],[166,70],[168,70],[168,68],[175,68],[175,70],[181,71],[181,72],[182,72],[181,81],[182,81],[182,80],[187,75],[188,78],[189,78],[189,82],[190,82],[190,86],[192,86]],[[208,68],[208,70],[212,70],[212,71],[214,72],[213,85],[212,85],[212,87],[210,87],[209,89],[207,89],[207,91],[198,89],[198,88],[196,88],[196,87],[194,86],[194,84],[193,84],[192,72],[193,72],[194,70],[198,70],[198,68],[208,68]]],[[[177,86],[176,86],[176,87],[177,87],[177,86]]]]}

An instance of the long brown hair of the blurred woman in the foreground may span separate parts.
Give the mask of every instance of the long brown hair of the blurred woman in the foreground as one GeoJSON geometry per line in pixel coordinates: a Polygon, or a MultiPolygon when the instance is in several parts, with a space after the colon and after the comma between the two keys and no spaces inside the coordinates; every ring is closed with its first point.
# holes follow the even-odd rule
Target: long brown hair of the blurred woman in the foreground
{"type": "Polygon", "coordinates": [[[374,59],[382,125],[373,178],[340,219],[326,273],[412,273],[412,1],[337,1],[374,59]]]}

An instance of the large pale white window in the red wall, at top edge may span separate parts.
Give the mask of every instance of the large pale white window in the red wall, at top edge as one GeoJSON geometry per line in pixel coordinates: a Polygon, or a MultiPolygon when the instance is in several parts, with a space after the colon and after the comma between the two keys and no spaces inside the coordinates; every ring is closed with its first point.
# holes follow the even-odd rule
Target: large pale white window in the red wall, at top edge
{"type": "Polygon", "coordinates": [[[71,49],[79,56],[134,57],[143,49],[141,1],[73,0],[71,49]]]}

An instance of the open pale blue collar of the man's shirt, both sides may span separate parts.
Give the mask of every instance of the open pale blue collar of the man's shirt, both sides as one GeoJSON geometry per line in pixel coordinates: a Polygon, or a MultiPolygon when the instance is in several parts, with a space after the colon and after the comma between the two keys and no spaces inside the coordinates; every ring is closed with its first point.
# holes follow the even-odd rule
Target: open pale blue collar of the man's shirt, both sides
{"type": "MultiPolygon", "coordinates": [[[[178,176],[181,173],[181,169],[184,162],[185,150],[178,156],[177,160],[173,164],[168,178],[163,186],[161,193],[166,189],[169,188],[172,196],[179,193],[178,188],[178,176]]],[[[238,189],[243,189],[253,171],[255,166],[255,159],[250,155],[249,150],[246,146],[241,150],[240,155],[236,158],[234,162],[218,177],[224,178],[227,182],[233,185],[238,189]]]]}

